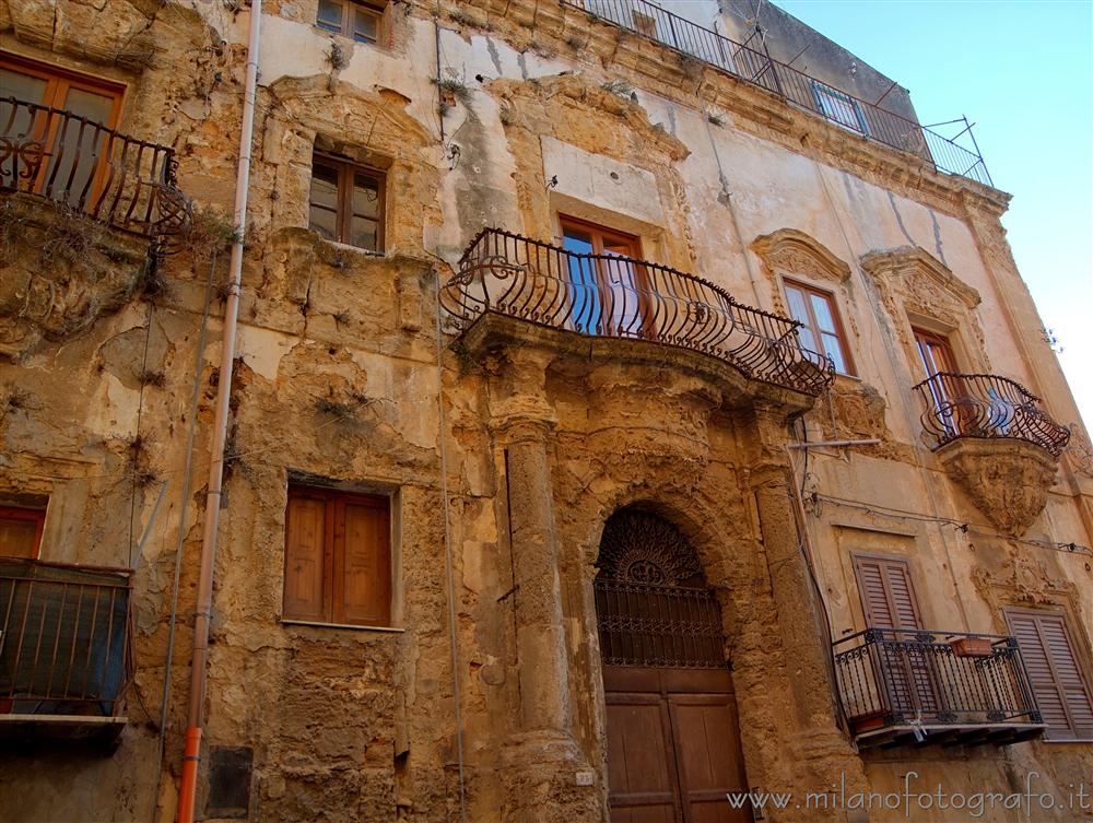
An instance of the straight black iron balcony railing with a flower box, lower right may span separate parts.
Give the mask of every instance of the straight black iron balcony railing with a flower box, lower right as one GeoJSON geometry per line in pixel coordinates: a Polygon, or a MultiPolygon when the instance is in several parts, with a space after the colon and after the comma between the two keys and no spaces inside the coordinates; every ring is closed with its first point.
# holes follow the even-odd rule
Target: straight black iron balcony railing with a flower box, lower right
{"type": "Polygon", "coordinates": [[[1002,743],[1044,731],[1013,637],[867,628],[832,646],[859,745],[1002,743]]]}

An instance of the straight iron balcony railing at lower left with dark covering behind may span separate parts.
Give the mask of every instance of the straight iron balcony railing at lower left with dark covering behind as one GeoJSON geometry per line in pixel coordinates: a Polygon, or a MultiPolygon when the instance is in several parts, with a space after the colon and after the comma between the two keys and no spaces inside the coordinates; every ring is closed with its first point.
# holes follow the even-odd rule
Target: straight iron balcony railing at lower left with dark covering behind
{"type": "Polygon", "coordinates": [[[129,569],[0,557],[0,721],[118,715],[133,674],[130,589],[129,569]]]}

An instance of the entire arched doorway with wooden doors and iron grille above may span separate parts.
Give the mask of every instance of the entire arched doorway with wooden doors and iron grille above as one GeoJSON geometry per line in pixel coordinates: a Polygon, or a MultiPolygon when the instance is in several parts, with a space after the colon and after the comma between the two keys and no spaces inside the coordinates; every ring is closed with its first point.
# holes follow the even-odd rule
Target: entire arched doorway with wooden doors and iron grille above
{"type": "Polygon", "coordinates": [[[694,549],[627,507],[604,524],[595,580],[611,823],[736,823],[747,790],[721,616],[694,549]]]}

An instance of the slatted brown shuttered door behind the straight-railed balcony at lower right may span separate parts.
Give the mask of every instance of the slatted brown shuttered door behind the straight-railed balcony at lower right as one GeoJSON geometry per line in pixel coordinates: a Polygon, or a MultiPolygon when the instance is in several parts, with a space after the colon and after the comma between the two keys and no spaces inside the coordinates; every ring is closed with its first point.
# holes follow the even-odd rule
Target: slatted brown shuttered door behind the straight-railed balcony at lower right
{"type": "Polygon", "coordinates": [[[866,624],[902,630],[885,637],[891,643],[882,644],[883,659],[879,661],[878,674],[889,691],[891,708],[920,714],[922,719],[935,718],[942,707],[933,660],[928,652],[896,645],[914,643],[915,633],[925,628],[907,562],[859,554],[854,557],[854,572],[866,624]]]}

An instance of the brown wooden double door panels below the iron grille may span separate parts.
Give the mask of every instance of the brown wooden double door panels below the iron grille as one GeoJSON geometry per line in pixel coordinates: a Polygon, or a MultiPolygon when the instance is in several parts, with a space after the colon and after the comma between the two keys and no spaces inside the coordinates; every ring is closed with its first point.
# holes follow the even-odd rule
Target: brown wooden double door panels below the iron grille
{"type": "Polygon", "coordinates": [[[604,666],[611,823],[743,823],[747,791],[727,669],[604,666]]]}

